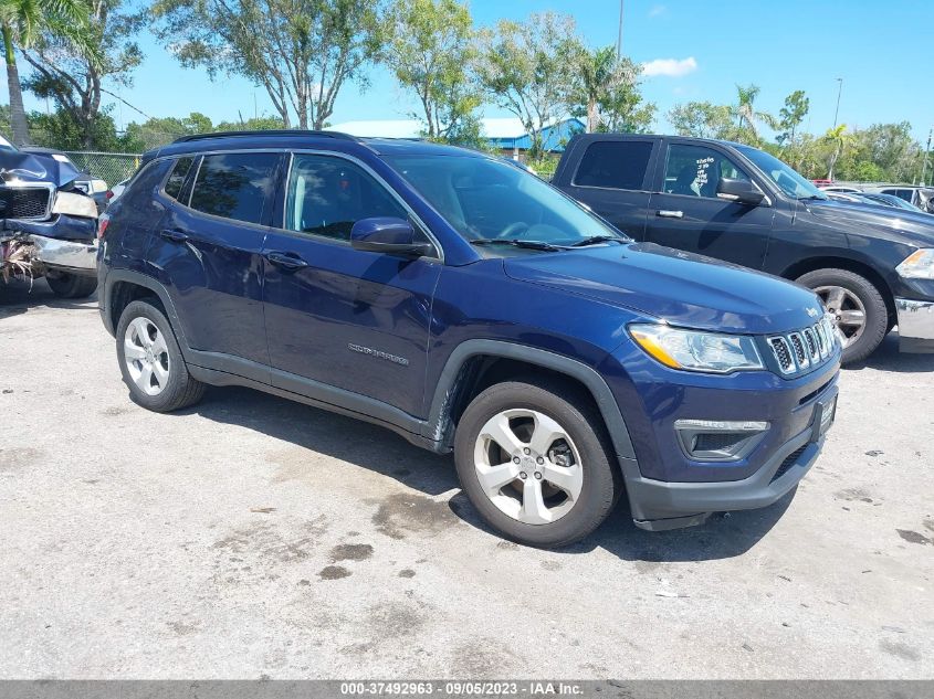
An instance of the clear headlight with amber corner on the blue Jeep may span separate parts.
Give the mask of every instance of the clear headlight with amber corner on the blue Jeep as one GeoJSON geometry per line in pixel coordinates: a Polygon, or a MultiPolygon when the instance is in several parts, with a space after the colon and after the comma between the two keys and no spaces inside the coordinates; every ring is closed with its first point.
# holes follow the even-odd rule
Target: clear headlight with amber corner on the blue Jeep
{"type": "Polygon", "coordinates": [[[665,325],[631,325],[629,333],[646,353],[672,369],[712,373],[765,369],[751,337],[665,325]]]}

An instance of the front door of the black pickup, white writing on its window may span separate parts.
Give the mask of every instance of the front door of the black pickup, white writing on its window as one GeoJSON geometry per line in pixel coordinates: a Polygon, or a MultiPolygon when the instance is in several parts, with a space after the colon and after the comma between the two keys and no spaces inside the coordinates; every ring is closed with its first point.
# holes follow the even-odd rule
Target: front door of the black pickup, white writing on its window
{"type": "Polygon", "coordinates": [[[755,181],[713,144],[665,141],[657,168],[646,239],[679,250],[762,268],[775,209],[717,197],[721,178],[755,181]]]}

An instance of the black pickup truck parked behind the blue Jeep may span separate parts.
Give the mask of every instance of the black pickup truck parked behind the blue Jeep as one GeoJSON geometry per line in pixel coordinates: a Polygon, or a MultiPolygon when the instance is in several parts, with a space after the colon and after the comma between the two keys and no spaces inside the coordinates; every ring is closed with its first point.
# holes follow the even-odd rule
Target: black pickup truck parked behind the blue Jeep
{"type": "Polygon", "coordinates": [[[903,351],[934,351],[931,214],[841,204],[757,148],[674,136],[575,136],[552,183],[637,241],[810,287],[844,363],[896,325],[903,351]]]}

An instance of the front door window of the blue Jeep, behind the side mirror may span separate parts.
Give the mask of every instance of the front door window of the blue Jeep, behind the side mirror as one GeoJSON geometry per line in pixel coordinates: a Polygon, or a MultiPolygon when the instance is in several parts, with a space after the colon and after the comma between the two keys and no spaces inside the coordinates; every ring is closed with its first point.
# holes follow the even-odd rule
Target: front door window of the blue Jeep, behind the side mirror
{"type": "Polygon", "coordinates": [[[327,156],[296,153],[288,176],[285,227],[300,233],[350,240],[360,219],[408,212],[360,167],[327,156]]]}

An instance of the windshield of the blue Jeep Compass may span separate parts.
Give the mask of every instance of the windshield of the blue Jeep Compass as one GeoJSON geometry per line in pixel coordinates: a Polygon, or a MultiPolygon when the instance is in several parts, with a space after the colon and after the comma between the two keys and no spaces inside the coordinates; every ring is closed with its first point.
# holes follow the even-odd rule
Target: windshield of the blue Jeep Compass
{"type": "Polygon", "coordinates": [[[469,241],[574,245],[621,234],[534,174],[491,158],[388,156],[386,161],[469,241]]]}

